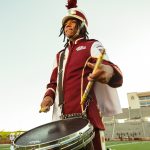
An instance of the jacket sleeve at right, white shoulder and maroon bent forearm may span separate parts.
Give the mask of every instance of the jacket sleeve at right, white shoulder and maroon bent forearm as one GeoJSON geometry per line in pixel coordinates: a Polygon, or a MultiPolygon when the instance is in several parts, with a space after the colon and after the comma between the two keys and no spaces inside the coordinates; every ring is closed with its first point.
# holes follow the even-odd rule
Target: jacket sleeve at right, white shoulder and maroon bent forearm
{"type": "MultiPolygon", "coordinates": [[[[103,48],[104,48],[103,45],[99,41],[94,42],[91,47],[91,56],[92,57],[99,56],[99,53],[103,48]]],[[[110,65],[114,70],[114,75],[110,79],[108,85],[113,88],[120,87],[123,83],[123,76],[119,67],[114,63],[112,63],[111,61],[109,61],[107,54],[104,56],[103,64],[110,65]]]]}

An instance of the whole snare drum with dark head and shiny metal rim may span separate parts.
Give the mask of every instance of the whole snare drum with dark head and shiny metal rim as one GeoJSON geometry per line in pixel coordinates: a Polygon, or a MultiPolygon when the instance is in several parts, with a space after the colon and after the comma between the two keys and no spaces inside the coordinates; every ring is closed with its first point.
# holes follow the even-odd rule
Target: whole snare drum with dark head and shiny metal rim
{"type": "Polygon", "coordinates": [[[87,119],[58,120],[31,129],[14,140],[16,150],[87,150],[94,138],[87,119]]]}

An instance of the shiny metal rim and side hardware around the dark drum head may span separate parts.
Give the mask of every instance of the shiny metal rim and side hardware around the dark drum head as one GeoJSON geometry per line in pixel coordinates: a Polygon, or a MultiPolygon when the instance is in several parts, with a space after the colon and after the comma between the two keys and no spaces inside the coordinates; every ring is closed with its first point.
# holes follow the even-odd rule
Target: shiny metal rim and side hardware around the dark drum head
{"type": "MultiPolygon", "coordinates": [[[[69,118],[69,119],[74,119],[74,118],[69,118]]],[[[66,120],[69,120],[66,119],[66,120]]],[[[77,118],[77,119],[82,119],[84,121],[87,121],[86,126],[81,128],[79,131],[74,132],[72,134],[69,134],[67,136],[58,138],[53,141],[48,141],[45,143],[40,143],[40,144],[33,144],[33,145],[17,145],[15,144],[14,141],[14,147],[17,150],[27,150],[27,149],[34,149],[34,150],[46,150],[46,149],[61,149],[61,150],[77,150],[79,148],[82,148],[82,146],[86,146],[92,139],[94,138],[94,131],[93,131],[93,126],[89,123],[87,119],[83,118],[77,118]],[[76,147],[73,147],[76,146],[76,147]],[[59,148],[61,147],[61,148],[59,148]]],[[[61,120],[59,120],[61,121],[61,120]]],[[[57,122],[57,121],[56,121],[57,122]]]]}

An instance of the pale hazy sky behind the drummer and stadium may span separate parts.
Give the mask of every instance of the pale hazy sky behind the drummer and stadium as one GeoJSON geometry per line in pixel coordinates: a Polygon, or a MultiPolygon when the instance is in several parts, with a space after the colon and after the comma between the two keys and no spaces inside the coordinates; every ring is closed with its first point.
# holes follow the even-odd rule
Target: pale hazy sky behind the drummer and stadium
{"type": "MultiPolygon", "coordinates": [[[[39,113],[67,0],[0,0],[0,131],[29,130],[51,122],[39,113]]],[[[127,93],[150,91],[150,1],[78,0],[87,16],[89,38],[99,40],[117,64],[124,83],[117,89],[122,108],[127,93]]]]}

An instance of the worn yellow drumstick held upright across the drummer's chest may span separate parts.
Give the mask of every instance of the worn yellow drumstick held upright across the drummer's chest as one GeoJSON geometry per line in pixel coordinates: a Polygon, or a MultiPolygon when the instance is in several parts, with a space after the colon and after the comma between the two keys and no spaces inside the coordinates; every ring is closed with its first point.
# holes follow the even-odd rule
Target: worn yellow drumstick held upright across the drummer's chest
{"type": "MultiPolygon", "coordinates": [[[[101,63],[102,63],[102,61],[103,61],[104,54],[105,54],[105,49],[103,48],[103,49],[101,50],[101,53],[100,53],[100,55],[99,55],[97,61],[96,61],[95,67],[94,67],[94,69],[93,69],[93,71],[92,71],[92,74],[95,73],[95,71],[96,71],[96,70],[98,69],[98,67],[101,65],[101,63]]],[[[86,101],[86,99],[87,99],[87,96],[88,96],[88,94],[89,94],[89,92],[90,92],[90,90],[91,90],[93,84],[94,84],[94,81],[89,81],[88,84],[87,84],[87,86],[86,86],[86,89],[85,89],[85,91],[84,91],[84,93],[83,93],[83,95],[82,95],[81,103],[80,103],[80,104],[81,104],[81,108],[82,108],[82,112],[83,112],[84,103],[85,103],[85,101],[86,101]]]]}

